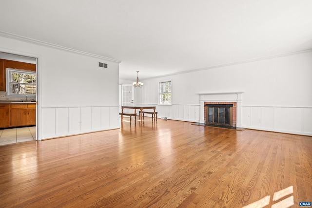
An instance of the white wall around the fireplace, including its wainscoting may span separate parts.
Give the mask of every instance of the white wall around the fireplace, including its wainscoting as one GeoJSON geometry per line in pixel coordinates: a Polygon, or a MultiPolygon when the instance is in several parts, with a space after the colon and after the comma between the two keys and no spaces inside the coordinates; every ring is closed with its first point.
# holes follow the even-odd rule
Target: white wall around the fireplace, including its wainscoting
{"type": "Polygon", "coordinates": [[[198,94],[243,92],[243,127],[312,135],[312,51],[141,81],[138,103],[159,116],[199,122],[198,94]],[[171,106],[157,105],[163,80],[172,80],[171,106]]]}

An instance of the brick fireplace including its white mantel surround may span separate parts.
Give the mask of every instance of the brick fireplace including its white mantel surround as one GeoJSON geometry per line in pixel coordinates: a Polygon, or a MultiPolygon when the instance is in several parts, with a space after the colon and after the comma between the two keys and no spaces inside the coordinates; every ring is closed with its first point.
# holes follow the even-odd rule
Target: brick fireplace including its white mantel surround
{"type": "MultiPolygon", "coordinates": [[[[206,106],[211,106],[215,104],[216,107],[220,106],[221,109],[224,109],[223,106],[230,106],[230,110],[226,110],[231,115],[231,126],[241,127],[241,102],[242,102],[242,92],[229,92],[229,93],[202,93],[200,96],[200,123],[208,124],[207,121],[208,113],[206,106]],[[208,104],[208,105],[207,105],[208,104]],[[233,106],[232,106],[233,105],[233,106]]],[[[218,113],[223,113],[218,112],[218,113]]],[[[217,110],[215,110],[217,111],[217,110]]],[[[224,113],[223,113],[224,114],[224,113]]],[[[211,118],[210,118],[211,121],[211,118]]],[[[229,125],[229,124],[226,124],[229,125]]]]}

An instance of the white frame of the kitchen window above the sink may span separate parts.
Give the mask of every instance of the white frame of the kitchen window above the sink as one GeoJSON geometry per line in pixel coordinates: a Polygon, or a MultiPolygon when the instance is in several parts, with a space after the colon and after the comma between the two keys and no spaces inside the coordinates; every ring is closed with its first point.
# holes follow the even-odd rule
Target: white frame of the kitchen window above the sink
{"type": "MultiPolygon", "coordinates": [[[[13,69],[13,68],[6,68],[6,77],[5,77],[5,82],[6,82],[6,95],[7,96],[12,96],[12,97],[21,97],[21,96],[28,96],[28,97],[36,97],[37,95],[37,74],[35,71],[31,70],[24,70],[24,69],[13,69]],[[11,74],[12,73],[20,73],[20,74],[29,74],[29,75],[36,75],[36,84],[29,83],[29,85],[35,85],[36,86],[36,92],[35,94],[15,94],[12,93],[11,89],[11,74]]],[[[25,83],[27,85],[27,83],[25,83]]]]}

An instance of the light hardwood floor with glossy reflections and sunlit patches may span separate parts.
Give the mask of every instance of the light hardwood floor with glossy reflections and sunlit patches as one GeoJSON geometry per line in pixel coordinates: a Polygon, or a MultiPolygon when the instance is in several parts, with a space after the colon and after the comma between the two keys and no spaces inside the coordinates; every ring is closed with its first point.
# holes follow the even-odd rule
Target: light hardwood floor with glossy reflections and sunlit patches
{"type": "Polygon", "coordinates": [[[117,130],[0,146],[1,208],[281,208],[300,201],[312,201],[310,136],[147,118],[130,127],[124,118],[117,130]]]}

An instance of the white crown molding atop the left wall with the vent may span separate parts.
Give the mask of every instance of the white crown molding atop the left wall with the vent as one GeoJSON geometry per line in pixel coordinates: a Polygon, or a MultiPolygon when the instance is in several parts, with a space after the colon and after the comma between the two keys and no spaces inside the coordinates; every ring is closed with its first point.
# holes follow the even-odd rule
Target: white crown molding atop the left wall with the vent
{"type": "Polygon", "coordinates": [[[33,39],[33,38],[27,38],[27,37],[15,35],[15,34],[12,34],[12,33],[3,32],[3,31],[0,31],[0,36],[2,36],[4,38],[17,39],[17,40],[21,40],[21,41],[24,41],[24,42],[37,44],[37,45],[40,45],[40,46],[47,46],[47,47],[50,47],[50,48],[55,48],[55,49],[59,49],[59,50],[63,50],[63,51],[68,51],[68,52],[71,52],[71,53],[81,54],[81,55],[85,55],[85,56],[89,56],[89,57],[96,57],[96,58],[100,58],[100,59],[105,59],[105,60],[113,61],[113,62],[116,62],[116,63],[120,63],[121,62],[120,60],[117,60],[117,59],[114,59],[114,58],[103,57],[103,56],[99,56],[99,55],[96,55],[96,54],[91,54],[91,53],[88,53],[88,52],[79,51],[79,50],[75,50],[75,49],[72,49],[72,48],[67,48],[67,47],[64,47],[64,46],[60,46],[60,45],[56,45],[56,44],[52,44],[52,43],[36,40],[36,39],[33,39]]]}

